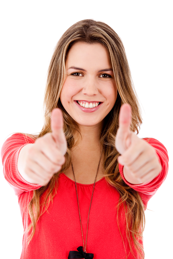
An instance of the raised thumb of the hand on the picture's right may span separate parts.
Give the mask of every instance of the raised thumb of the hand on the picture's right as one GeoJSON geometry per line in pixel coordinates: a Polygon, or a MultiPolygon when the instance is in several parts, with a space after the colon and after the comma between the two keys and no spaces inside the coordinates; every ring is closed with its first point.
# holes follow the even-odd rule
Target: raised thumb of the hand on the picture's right
{"type": "Polygon", "coordinates": [[[119,133],[125,134],[130,131],[132,109],[129,104],[123,104],[119,114],[119,133]]]}

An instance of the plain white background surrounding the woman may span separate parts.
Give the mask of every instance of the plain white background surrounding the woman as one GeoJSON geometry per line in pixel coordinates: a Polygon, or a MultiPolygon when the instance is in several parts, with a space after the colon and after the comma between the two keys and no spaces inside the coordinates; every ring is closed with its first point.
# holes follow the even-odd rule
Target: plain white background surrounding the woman
{"type": "MultiPolygon", "coordinates": [[[[41,130],[47,68],[54,46],[68,27],[93,18],[119,34],[143,107],[140,137],[161,141],[170,158],[168,176],[148,203],[152,211],[146,211],[145,258],[172,258],[171,1],[6,0],[0,12],[0,146],[13,132],[41,130]]],[[[0,170],[1,258],[19,259],[23,226],[18,200],[3,178],[2,166],[0,170]]]]}

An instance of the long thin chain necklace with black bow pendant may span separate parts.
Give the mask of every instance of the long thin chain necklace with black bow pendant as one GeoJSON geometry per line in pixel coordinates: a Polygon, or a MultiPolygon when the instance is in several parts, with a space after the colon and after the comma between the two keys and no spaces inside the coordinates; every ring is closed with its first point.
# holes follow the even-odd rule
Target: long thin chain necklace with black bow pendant
{"type": "MultiPolygon", "coordinates": [[[[102,150],[103,152],[103,150],[102,150]]],[[[102,155],[101,152],[101,155],[102,155]]],[[[101,155],[100,155],[100,160],[101,160],[101,155]]],[[[100,166],[100,160],[99,160],[99,165],[97,168],[97,173],[99,170],[99,166],[100,166]]],[[[72,163],[71,163],[72,164],[72,163]]],[[[72,170],[73,170],[73,164],[72,164],[72,170]]],[[[97,173],[96,173],[96,177],[97,177],[97,173]]],[[[73,170],[73,175],[74,175],[74,170],[73,170]]],[[[96,177],[95,177],[95,181],[96,181],[96,177]]],[[[77,184],[76,184],[76,179],[74,176],[74,180],[75,180],[75,187],[76,187],[76,193],[77,193],[77,200],[78,200],[78,191],[77,191],[77,184]]],[[[95,181],[94,181],[94,186],[95,186],[95,181]]],[[[94,192],[94,186],[93,186],[93,192],[94,192]]],[[[92,193],[92,197],[91,197],[91,202],[92,202],[92,198],[93,198],[93,193],[92,193]]],[[[90,212],[90,208],[91,208],[91,202],[90,202],[90,206],[89,206],[89,212],[90,212]]],[[[79,200],[78,200],[78,209],[79,209],[79,200]]],[[[88,212],[88,222],[89,222],[89,212],[88,212]]],[[[94,254],[90,254],[90,253],[86,253],[86,243],[87,243],[87,234],[88,234],[88,223],[87,223],[87,234],[86,234],[86,243],[84,244],[84,237],[83,237],[83,231],[82,231],[82,223],[81,223],[81,217],[80,217],[80,210],[79,210],[79,218],[80,218],[80,226],[81,226],[81,232],[82,232],[82,239],[83,239],[83,245],[84,245],[84,251],[82,246],[79,246],[77,248],[77,251],[70,251],[69,255],[68,255],[68,259],[75,259],[75,258],[85,258],[85,259],[92,259],[94,257],[94,254]]]]}

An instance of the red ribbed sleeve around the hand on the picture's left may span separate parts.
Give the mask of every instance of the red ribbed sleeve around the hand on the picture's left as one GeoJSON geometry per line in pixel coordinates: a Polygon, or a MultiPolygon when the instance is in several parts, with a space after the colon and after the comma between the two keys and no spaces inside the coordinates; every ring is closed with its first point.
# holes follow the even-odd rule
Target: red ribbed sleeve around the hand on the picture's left
{"type": "Polygon", "coordinates": [[[4,142],[1,149],[4,177],[14,189],[15,195],[19,195],[23,191],[36,190],[41,187],[38,184],[31,184],[25,181],[17,169],[20,149],[29,143],[34,143],[34,140],[26,137],[24,134],[15,133],[4,142]]]}

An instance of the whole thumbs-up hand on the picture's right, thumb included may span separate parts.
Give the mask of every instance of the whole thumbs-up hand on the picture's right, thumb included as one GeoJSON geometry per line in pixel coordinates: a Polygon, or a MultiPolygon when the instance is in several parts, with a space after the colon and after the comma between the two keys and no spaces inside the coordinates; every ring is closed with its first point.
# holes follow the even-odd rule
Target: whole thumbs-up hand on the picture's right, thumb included
{"type": "Polygon", "coordinates": [[[119,114],[119,128],[115,147],[121,154],[118,162],[124,166],[123,175],[132,184],[152,181],[162,170],[155,149],[130,131],[131,107],[123,104],[119,114]]]}

